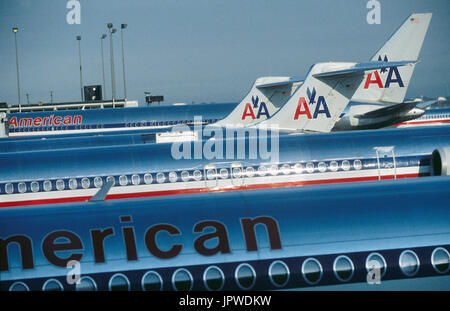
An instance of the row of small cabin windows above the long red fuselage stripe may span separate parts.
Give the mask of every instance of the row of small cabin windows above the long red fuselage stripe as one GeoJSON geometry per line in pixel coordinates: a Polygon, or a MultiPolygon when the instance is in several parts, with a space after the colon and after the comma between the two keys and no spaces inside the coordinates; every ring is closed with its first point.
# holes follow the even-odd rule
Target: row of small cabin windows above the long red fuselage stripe
{"type": "MultiPolygon", "coordinates": [[[[341,163],[340,168],[344,171],[348,171],[351,169],[350,161],[344,160],[341,163]]],[[[206,179],[213,180],[213,179],[228,179],[229,176],[232,178],[242,178],[242,177],[253,177],[254,175],[259,175],[260,177],[266,176],[267,174],[271,174],[272,176],[278,175],[279,173],[284,175],[289,175],[291,173],[295,174],[301,174],[303,172],[307,173],[314,173],[314,171],[318,171],[320,173],[324,173],[327,171],[336,172],[339,169],[339,163],[337,161],[331,161],[330,163],[325,162],[319,162],[317,164],[317,167],[314,165],[314,163],[309,162],[306,163],[306,165],[302,165],[301,163],[296,163],[295,165],[289,165],[289,164],[283,164],[281,166],[278,166],[276,164],[271,166],[259,166],[257,171],[255,171],[255,168],[252,166],[249,166],[247,168],[243,167],[234,167],[229,169],[221,168],[221,169],[206,169],[206,179]]],[[[362,169],[362,162],[361,160],[354,160],[353,161],[353,169],[360,170],[362,169]]],[[[194,181],[200,181],[203,178],[202,171],[195,170],[191,173],[188,171],[182,171],[180,173],[180,179],[183,182],[190,181],[191,179],[194,181]],[[191,175],[192,174],[192,175],[191,175]]],[[[140,184],[151,184],[153,183],[153,176],[150,173],[139,175],[139,174],[133,174],[130,177],[127,175],[120,175],[118,178],[113,176],[106,177],[106,182],[111,181],[112,185],[115,186],[116,182],[119,186],[127,186],[127,185],[140,185],[140,184]]],[[[178,173],[177,172],[169,172],[167,175],[159,172],[155,175],[155,180],[157,183],[165,183],[166,181],[169,181],[171,183],[177,182],[179,180],[178,173]]],[[[75,190],[75,189],[88,189],[91,187],[95,188],[101,188],[103,186],[104,177],[84,177],[84,178],[71,178],[69,180],[63,180],[58,179],[56,181],[32,181],[32,182],[19,182],[16,184],[16,187],[14,187],[13,183],[7,183],[5,184],[5,193],[6,194],[12,194],[12,193],[25,193],[27,191],[31,192],[39,192],[39,191],[52,191],[53,189],[57,191],[62,190],[75,190]]]]}

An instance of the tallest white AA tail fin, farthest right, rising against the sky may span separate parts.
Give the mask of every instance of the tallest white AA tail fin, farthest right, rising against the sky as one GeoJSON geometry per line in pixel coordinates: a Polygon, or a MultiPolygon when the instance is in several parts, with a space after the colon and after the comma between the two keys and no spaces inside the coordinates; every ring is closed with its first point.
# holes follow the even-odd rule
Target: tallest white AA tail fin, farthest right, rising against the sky
{"type": "MultiPolygon", "coordinates": [[[[371,61],[417,61],[432,13],[411,14],[371,61]]],[[[368,76],[364,89],[355,93],[352,101],[401,103],[405,99],[415,63],[401,68],[391,67],[368,76]]]]}

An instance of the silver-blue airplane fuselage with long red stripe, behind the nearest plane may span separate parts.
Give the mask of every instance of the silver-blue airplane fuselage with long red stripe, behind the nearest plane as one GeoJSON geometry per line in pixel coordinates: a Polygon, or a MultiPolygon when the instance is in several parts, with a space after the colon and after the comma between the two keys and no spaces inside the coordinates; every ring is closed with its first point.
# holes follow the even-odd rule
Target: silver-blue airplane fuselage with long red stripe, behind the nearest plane
{"type": "Polygon", "coordinates": [[[447,126],[272,134],[2,153],[0,207],[415,178],[450,146],[447,126]]]}

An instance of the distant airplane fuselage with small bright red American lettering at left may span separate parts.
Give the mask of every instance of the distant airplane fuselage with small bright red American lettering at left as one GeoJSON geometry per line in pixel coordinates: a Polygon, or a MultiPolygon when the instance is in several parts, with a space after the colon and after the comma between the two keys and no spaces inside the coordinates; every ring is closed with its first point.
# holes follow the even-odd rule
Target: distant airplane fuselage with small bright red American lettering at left
{"type": "Polygon", "coordinates": [[[193,124],[194,116],[203,116],[204,124],[225,117],[236,103],[183,106],[89,109],[8,114],[10,137],[57,134],[107,133],[148,129],[166,129],[177,124],[193,124]]]}

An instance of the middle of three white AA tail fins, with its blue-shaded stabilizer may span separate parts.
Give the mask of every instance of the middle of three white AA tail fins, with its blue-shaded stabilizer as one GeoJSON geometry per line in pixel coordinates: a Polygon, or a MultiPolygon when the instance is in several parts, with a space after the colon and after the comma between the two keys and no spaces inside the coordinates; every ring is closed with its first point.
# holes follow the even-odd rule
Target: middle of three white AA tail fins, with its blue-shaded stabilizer
{"type": "Polygon", "coordinates": [[[374,70],[410,65],[410,61],[370,63],[318,63],[286,104],[259,127],[287,132],[329,132],[350,99],[364,87],[374,70]]]}

